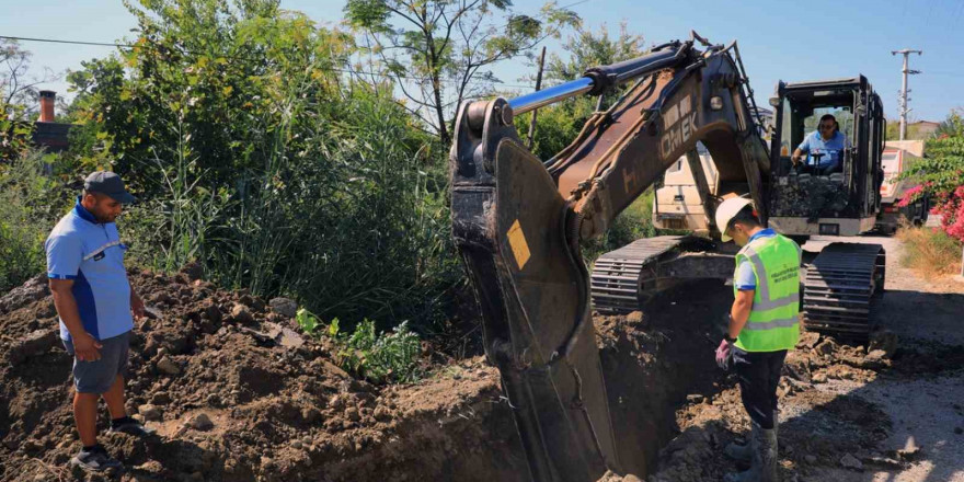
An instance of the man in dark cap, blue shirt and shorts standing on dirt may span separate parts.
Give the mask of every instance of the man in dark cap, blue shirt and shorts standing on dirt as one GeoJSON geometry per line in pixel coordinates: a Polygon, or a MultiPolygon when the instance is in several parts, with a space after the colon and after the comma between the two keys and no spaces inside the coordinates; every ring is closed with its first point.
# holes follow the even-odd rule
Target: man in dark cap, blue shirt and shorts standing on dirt
{"type": "Polygon", "coordinates": [[[113,172],[97,171],[83,183],[77,205],[50,231],[47,277],[60,315],[60,338],[73,358],[73,418],[80,452],[70,461],[90,471],[117,470],[120,462],[97,444],[97,399],[111,412],[111,431],[148,435],[124,408],[124,375],[134,319],[144,302],[124,268],[124,251],[114,219],[134,196],[113,172]]]}

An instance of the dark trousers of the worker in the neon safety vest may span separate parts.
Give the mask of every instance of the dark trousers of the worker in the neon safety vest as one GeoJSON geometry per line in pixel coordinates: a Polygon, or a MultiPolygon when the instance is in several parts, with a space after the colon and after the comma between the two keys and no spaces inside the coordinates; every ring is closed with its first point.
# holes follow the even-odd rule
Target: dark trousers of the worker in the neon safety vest
{"type": "Polygon", "coordinates": [[[744,352],[733,347],[733,367],[739,379],[743,406],[749,417],[762,428],[773,428],[773,411],[777,410],[777,386],[787,351],[744,352]]]}

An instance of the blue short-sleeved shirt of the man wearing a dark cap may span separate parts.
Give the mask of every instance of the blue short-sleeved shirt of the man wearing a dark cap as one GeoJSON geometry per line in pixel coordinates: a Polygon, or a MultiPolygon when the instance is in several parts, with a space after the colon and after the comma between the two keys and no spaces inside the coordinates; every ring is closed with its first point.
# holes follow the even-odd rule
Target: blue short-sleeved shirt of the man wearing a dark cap
{"type": "MultiPolygon", "coordinates": [[[[122,335],[134,328],[130,314],[130,284],[124,268],[124,252],[117,226],[101,223],[83,206],[64,216],[47,241],[47,276],[73,279],[73,298],[83,329],[96,340],[122,335]]],[[[70,333],[60,320],[60,337],[70,333]]]]}

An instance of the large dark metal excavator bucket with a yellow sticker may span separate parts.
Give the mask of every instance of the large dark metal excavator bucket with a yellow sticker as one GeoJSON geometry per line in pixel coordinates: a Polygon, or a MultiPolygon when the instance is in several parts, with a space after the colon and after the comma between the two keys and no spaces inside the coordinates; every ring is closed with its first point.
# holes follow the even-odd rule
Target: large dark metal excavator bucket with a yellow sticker
{"type": "Polygon", "coordinates": [[[496,100],[475,112],[484,126],[462,110],[452,151],[452,230],[532,479],[596,480],[616,468],[616,444],[588,274],[566,236],[575,215],[500,115],[505,108],[496,100]]]}

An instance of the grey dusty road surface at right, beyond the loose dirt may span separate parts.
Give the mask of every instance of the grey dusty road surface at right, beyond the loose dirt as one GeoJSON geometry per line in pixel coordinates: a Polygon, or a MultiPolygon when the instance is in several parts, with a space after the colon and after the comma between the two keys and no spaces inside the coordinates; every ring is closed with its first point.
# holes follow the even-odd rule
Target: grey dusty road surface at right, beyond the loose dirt
{"type": "Polygon", "coordinates": [[[900,266],[902,243],[893,238],[861,238],[861,242],[887,250],[886,292],[876,321],[897,334],[902,348],[931,356],[933,364],[929,370],[896,378],[830,380],[817,388],[874,403],[891,420],[892,429],[880,451],[916,445],[921,454],[900,470],[828,469],[820,473],[822,480],[964,482],[964,283],[953,277],[922,279],[900,266]]]}

